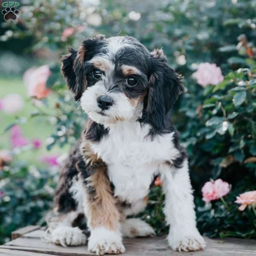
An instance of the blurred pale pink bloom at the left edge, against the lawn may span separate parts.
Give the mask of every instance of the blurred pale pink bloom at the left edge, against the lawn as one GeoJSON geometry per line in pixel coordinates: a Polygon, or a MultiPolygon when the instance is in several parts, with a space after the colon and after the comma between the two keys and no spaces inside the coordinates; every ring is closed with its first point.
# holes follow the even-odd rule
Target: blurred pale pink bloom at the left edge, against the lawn
{"type": "Polygon", "coordinates": [[[9,93],[0,101],[0,110],[7,114],[13,114],[20,111],[24,102],[20,94],[9,93]]]}

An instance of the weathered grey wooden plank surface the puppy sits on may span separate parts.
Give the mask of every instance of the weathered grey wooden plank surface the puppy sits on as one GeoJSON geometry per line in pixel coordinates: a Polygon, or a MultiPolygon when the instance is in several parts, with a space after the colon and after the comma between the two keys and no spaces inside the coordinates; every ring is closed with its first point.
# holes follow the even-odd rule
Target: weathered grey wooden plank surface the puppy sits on
{"type": "MultiPolygon", "coordinates": [[[[20,238],[0,246],[2,256],[90,256],[86,246],[62,247],[46,243],[40,238],[41,229],[23,234],[20,238]]],[[[164,237],[124,239],[123,256],[256,256],[256,240],[208,239],[207,249],[200,252],[179,253],[172,251],[164,237]]]]}

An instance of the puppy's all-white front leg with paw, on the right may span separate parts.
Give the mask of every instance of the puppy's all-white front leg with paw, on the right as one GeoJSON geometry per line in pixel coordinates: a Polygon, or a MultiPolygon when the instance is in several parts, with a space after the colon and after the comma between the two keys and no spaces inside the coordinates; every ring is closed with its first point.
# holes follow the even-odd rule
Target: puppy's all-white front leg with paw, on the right
{"type": "Polygon", "coordinates": [[[173,250],[196,251],[205,248],[204,238],[196,227],[196,217],[187,159],[181,168],[161,166],[165,193],[166,221],[170,225],[168,242],[173,250]]]}

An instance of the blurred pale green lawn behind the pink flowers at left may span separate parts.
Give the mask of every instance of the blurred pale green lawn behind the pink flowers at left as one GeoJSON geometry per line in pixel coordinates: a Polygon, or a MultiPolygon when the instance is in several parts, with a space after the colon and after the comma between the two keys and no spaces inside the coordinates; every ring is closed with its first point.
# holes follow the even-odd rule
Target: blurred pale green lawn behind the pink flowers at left
{"type": "Polygon", "coordinates": [[[53,125],[50,124],[49,119],[36,116],[31,118],[30,114],[35,111],[31,99],[27,96],[26,86],[23,84],[21,77],[14,78],[3,78],[0,77],[0,99],[6,96],[9,93],[18,93],[22,96],[24,100],[23,108],[17,113],[10,115],[5,114],[0,111],[0,150],[1,149],[11,149],[12,145],[10,144],[10,132],[4,131],[6,127],[15,122],[17,118],[25,117],[28,119],[26,123],[20,125],[23,135],[29,140],[38,138],[42,141],[42,147],[38,150],[23,152],[19,157],[23,157],[25,160],[31,160],[32,163],[38,163],[38,158],[46,154],[59,154],[61,151],[67,151],[67,148],[59,149],[53,148],[52,151],[46,150],[46,139],[52,134],[54,130],[53,125]]]}

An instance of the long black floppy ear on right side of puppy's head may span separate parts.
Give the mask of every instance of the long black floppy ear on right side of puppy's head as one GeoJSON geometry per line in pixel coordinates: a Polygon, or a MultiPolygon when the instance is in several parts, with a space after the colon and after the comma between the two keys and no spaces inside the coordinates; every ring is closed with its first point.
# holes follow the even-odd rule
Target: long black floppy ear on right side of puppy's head
{"type": "Polygon", "coordinates": [[[151,52],[152,72],[148,95],[145,97],[143,118],[156,132],[164,132],[166,114],[184,92],[181,77],[167,65],[162,49],[151,52]]]}

